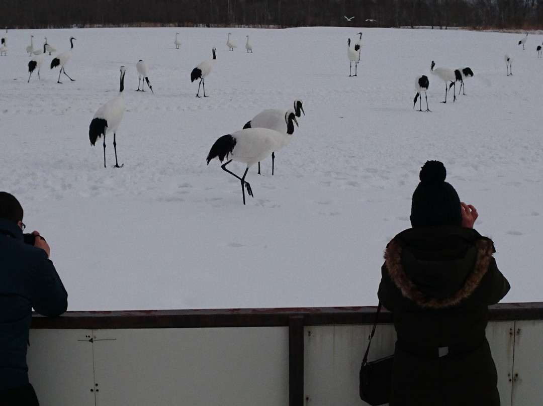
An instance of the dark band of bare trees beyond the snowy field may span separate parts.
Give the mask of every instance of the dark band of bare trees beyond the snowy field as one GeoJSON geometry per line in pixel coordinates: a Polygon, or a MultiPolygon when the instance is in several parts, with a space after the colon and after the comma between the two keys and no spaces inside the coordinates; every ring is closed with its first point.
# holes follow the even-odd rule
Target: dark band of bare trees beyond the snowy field
{"type": "Polygon", "coordinates": [[[0,27],[535,29],[543,0],[0,0],[0,27]],[[345,17],[351,18],[348,21],[345,17]]]}

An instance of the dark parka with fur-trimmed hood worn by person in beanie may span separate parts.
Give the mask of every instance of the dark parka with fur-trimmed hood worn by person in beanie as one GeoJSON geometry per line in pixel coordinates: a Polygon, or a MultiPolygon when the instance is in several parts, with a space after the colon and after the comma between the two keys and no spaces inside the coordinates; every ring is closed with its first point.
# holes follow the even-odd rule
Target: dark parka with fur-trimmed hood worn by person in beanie
{"type": "Polygon", "coordinates": [[[509,291],[492,240],[415,227],[387,245],[378,297],[397,333],[390,406],[498,406],[488,306],[509,291]]]}

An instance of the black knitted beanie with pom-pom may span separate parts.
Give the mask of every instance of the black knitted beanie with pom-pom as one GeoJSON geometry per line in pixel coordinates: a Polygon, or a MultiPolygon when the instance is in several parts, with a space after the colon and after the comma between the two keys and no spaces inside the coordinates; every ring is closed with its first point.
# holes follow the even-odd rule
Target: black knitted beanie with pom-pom
{"type": "Polygon", "coordinates": [[[413,227],[462,225],[460,199],[450,183],[447,171],[439,161],[427,161],[420,170],[420,183],[411,202],[413,227]]]}

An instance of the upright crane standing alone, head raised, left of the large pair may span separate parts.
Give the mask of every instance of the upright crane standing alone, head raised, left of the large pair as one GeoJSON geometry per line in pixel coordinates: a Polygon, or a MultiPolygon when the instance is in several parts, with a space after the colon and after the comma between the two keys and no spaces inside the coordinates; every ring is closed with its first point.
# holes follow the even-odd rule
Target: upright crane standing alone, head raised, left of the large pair
{"type": "Polygon", "coordinates": [[[104,168],[105,166],[105,135],[113,133],[113,149],[115,149],[115,168],[121,168],[117,161],[117,141],[116,133],[124,114],[124,66],[121,66],[121,81],[119,85],[119,94],[106,104],[102,105],[94,114],[89,125],[89,139],[94,146],[100,136],[104,136],[104,168]]]}

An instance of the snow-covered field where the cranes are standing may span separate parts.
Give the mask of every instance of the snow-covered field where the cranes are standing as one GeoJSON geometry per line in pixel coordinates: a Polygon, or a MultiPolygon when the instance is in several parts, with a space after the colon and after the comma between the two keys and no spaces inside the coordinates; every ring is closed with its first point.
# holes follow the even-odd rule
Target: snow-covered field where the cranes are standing
{"type": "MultiPolygon", "coordinates": [[[[70,310],[375,305],[388,240],[409,227],[426,160],[445,163],[476,228],[494,239],[512,289],[543,300],[543,59],[531,35],[363,29],[358,77],[347,39],[357,28],[10,30],[0,57],[0,190],[17,196],[69,294],[70,310]],[[175,32],[182,41],[175,49],[175,32]],[[237,43],[229,52],[228,32],[237,43]],[[73,55],[47,56],[28,80],[34,35],[73,55]],[[254,49],[245,52],[245,36],[254,49]],[[206,94],[190,73],[211,58],[206,94]],[[513,58],[506,76],[504,54],[513,58]],[[134,92],[147,60],[154,94],[134,92]],[[437,67],[470,67],[466,96],[444,100],[437,67]],[[117,134],[89,143],[94,112],[118,92],[117,134]],[[415,77],[430,79],[432,112],[413,110],[415,77]],[[304,102],[293,141],[249,170],[254,198],[206,155],[263,109],[304,102]]],[[[3,35],[1,33],[0,35],[3,35]]],[[[458,91],[458,87],[457,87],[458,91]]],[[[424,105],[424,102],[423,102],[424,105]]],[[[418,109],[418,103],[417,103],[418,109]]],[[[243,164],[229,168],[243,174],[243,164]]]]}

